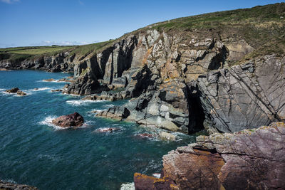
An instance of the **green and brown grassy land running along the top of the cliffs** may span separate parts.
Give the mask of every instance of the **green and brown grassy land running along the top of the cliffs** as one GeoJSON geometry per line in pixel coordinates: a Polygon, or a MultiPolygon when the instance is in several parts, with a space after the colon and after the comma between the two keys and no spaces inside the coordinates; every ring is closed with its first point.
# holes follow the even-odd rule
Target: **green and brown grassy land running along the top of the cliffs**
{"type": "Polygon", "coordinates": [[[266,53],[285,54],[285,3],[255,6],[251,9],[237,9],[197,16],[188,16],[160,23],[125,34],[116,39],[84,46],[33,46],[19,48],[0,48],[0,60],[24,60],[38,56],[52,56],[70,51],[71,56],[87,56],[111,46],[114,42],[128,36],[145,32],[149,29],[166,33],[217,33],[232,38],[243,38],[255,48],[247,58],[262,56],[266,53]]]}

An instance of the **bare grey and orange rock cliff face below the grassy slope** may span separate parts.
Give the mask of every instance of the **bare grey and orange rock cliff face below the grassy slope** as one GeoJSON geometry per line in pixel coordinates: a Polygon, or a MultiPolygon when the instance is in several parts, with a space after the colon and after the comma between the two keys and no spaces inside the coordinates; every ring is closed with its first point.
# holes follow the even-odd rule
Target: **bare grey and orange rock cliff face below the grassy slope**
{"type": "MultiPolygon", "coordinates": [[[[84,92],[81,78],[92,73],[101,78],[100,87],[126,86],[120,97],[132,99],[125,105],[130,115],[122,119],[172,131],[207,127],[235,132],[284,120],[284,57],[269,55],[239,63],[254,51],[246,41],[220,38],[210,31],[203,35],[207,38],[148,30],[128,36],[108,49],[104,64],[99,64],[102,58],[94,58],[90,64],[96,65],[94,69],[81,73],[74,85],[81,85],[84,92]],[[239,64],[229,67],[232,63],[239,64]]],[[[86,63],[76,67],[82,65],[91,68],[86,63]]],[[[68,92],[74,93],[71,88],[68,92]]],[[[108,117],[108,110],[98,116],[108,117]]]]}

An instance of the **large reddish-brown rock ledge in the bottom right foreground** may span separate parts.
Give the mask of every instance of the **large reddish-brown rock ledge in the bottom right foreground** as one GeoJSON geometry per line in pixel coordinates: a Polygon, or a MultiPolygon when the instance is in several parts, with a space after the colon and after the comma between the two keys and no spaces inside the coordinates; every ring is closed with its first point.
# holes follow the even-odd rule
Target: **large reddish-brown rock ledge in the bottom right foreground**
{"type": "Polygon", "coordinates": [[[285,189],[285,124],[197,137],[163,157],[161,179],[135,174],[136,189],[285,189]]]}

